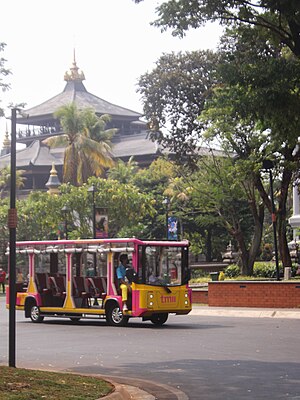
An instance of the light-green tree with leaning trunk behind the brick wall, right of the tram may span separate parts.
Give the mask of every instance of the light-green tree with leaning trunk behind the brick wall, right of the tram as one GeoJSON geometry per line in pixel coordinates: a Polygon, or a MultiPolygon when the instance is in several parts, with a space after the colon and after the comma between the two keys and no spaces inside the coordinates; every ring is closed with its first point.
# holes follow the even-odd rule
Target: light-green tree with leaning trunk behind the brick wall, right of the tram
{"type": "Polygon", "coordinates": [[[184,211],[194,220],[188,230],[191,237],[194,231],[201,233],[209,249],[211,236],[218,234],[220,241],[226,230],[238,246],[242,273],[252,275],[260,250],[264,206],[243,165],[232,157],[215,156],[212,151],[198,161],[197,171],[183,174],[176,192],[177,196],[188,194],[184,211]]]}

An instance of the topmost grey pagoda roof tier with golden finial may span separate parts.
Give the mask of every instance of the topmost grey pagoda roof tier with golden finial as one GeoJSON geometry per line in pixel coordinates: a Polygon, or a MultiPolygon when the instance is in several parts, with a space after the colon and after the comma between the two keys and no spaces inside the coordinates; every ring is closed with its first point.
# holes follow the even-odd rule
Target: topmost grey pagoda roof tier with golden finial
{"type": "Polygon", "coordinates": [[[64,76],[64,80],[67,83],[63,92],[35,107],[25,110],[24,113],[28,115],[28,118],[20,117],[17,119],[17,123],[39,125],[41,122],[53,120],[55,111],[73,102],[79,109],[92,108],[98,115],[109,114],[116,120],[135,121],[142,116],[136,111],[109,103],[89,93],[82,82],[84,79],[84,74],[77,67],[74,57],[72,67],[64,76]]]}

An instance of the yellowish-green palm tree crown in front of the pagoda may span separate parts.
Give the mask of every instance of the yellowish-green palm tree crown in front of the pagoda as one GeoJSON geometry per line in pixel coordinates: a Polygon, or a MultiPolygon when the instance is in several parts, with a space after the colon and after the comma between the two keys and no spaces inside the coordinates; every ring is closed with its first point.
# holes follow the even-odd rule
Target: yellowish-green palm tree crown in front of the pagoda
{"type": "Polygon", "coordinates": [[[105,130],[107,115],[98,117],[92,109],[79,110],[75,103],[62,106],[54,114],[63,135],[45,140],[50,147],[65,146],[63,181],[82,185],[90,176],[102,176],[114,165],[110,139],[116,129],[105,130]]]}

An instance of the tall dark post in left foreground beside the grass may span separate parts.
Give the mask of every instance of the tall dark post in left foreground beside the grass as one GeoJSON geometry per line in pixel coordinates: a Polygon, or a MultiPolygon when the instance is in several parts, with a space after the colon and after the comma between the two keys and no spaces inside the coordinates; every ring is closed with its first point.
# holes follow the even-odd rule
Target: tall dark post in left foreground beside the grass
{"type": "Polygon", "coordinates": [[[9,349],[8,364],[16,367],[16,131],[17,108],[11,109],[11,150],[10,150],[10,209],[9,228],[9,349]]]}

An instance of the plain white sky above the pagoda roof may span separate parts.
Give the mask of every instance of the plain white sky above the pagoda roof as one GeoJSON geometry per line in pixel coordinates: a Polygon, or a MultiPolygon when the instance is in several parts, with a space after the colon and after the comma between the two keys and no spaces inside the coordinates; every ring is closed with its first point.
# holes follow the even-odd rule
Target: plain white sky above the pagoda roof
{"type": "MultiPolygon", "coordinates": [[[[36,106],[63,91],[64,73],[76,49],[86,89],[111,103],[142,113],[139,77],[162,53],[216,48],[221,28],[191,30],[184,39],[150,26],[162,0],[4,0],[1,2],[0,56],[12,75],[1,106],[36,106]]],[[[7,112],[10,115],[10,111],[7,112]]],[[[7,122],[10,131],[10,122],[7,122]]],[[[0,120],[0,146],[5,119],[0,120]]]]}

